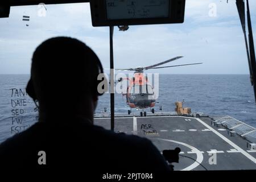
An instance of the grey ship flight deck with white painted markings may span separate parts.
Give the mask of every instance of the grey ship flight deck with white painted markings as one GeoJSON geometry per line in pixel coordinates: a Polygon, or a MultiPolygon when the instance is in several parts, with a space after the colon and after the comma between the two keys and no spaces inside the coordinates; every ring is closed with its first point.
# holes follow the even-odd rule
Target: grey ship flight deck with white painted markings
{"type": "MultiPolygon", "coordinates": [[[[108,114],[96,115],[94,124],[110,130],[108,114]]],[[[115,132],[146,137],[160,152],[179,147],[179,163],[172,163],[174,170],[256,169],[255,128],[229,116],[117,114],[114,124],[115,132]]]]}

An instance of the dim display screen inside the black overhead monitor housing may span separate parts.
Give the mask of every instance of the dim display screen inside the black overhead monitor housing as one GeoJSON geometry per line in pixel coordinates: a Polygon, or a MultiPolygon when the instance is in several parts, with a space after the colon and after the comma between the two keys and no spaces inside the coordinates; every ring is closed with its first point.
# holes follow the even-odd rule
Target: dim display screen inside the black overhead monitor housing
{"type": "Polygon", "coordinates": [[[170,0],[106,0],[106,18],[141,19],[168,18],[170,0]]]}

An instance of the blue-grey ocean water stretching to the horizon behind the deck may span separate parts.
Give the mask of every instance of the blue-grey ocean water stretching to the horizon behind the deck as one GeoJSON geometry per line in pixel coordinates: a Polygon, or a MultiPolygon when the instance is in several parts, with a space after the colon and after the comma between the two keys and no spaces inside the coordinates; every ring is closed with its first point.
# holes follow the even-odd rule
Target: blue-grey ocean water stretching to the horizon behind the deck
{"type": "MultiPolygon", "coordinates": [[[[0,143],[26,130],[38,119],[35,104],[24,90],[29,77],[0,75],[0,143]]],[[[72,96],[67,93],[67,97],[72,96]]],[[[163,111],[174,111],[175,102],[183,100],[192,112],[217,117],[230,115],[256,127],[256,105],[249,75],[159,75],[155,110],[162,106],[163,111]]],[[[110,94],[99,98],[96,113],[104,112],[104,107],[110,111],[110,94]]],[[[115,112],[127,113],[128,109],[125,98],[115,94],[115,112]]]]}

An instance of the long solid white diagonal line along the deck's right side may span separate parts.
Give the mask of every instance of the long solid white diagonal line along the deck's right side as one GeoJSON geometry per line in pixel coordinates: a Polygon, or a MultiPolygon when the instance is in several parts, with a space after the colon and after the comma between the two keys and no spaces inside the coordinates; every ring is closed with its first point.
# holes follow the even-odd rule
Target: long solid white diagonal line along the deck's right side
{"type": "Polygon", "coordinates": [[[205,127],[208,127],[208,129],[212,130],[213,133],[215,133],[216,135],[218,135],[218,137],[222,138],[225,142],[227,142],[228,144],[230,144],[230,146],[234,147],[236,150],[241,151],[241,153],[246,156],[246,158],[250,159],[252,162],[256,163],[256,159],[251,156],[250,154],[248,154],[245,150],[243,150],[241,147],[237,146],[235,143],[233,143],[231,140],[229,140],[228,138],[224,137],[222,134],[218,133],[218,131],[214,130],[212,127],[210,127],[209,125],[207,125],[207,123],[203,122],[201,119],[196,118],[197,121],[199,121],[202,125],[204,125],[205,127]]]}

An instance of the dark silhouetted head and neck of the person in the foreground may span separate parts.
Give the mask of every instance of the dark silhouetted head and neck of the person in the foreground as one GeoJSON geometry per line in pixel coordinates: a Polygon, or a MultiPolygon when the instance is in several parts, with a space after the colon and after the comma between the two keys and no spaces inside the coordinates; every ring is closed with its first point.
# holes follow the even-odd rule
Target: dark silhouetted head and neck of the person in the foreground
{"type": "Polygon", "coordinates": [[[93,121],[103,73],[96,54],[77,39],[51,38],[32,57],[27,93],[39,102],[39,120],[85,117],[93,121]]]}

